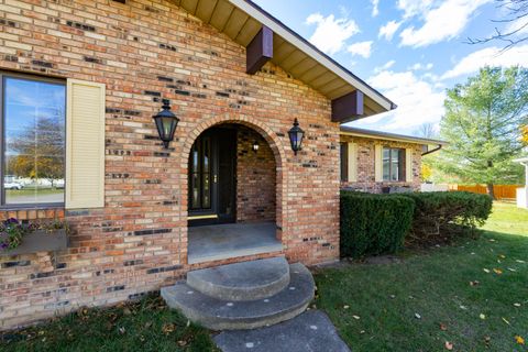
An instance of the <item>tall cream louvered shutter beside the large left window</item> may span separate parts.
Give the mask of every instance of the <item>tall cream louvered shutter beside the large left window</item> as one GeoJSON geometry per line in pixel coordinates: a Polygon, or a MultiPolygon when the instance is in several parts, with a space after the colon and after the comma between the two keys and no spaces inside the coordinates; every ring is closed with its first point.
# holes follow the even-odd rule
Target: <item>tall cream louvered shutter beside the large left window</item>
{"type": "Polygon", "coordinates": [[[105,85],[67,82],[66,209],[105,207],[105,85]]]}

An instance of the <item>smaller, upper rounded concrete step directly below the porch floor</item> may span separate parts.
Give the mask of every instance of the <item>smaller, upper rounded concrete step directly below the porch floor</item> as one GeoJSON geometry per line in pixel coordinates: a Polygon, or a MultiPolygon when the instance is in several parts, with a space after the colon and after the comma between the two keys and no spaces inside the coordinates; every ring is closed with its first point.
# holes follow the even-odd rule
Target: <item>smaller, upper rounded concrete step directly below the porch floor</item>
{"type": "Polygon", "coordinates": [[[187,273],[187,285],[224,300],[255,300],[289,284],[289,264],[283,256],[235,263],[187,273]]]}

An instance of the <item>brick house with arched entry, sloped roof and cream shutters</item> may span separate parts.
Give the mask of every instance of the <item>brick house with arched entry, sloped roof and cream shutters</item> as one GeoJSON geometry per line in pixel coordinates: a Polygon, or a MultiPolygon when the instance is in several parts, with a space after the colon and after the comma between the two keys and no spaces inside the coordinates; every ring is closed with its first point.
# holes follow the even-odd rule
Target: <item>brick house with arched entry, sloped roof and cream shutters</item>
{"type": "Polygon", "coordinates": [[[340,187],[380,190],[373,153],[393,143],[416,187],[430,144],[340,130],[396,106],[244,0],[2,0],[0,76],[2,217],[72,229],[66,249],[0,256],[0,329],[191,268],[334,261],[340,187]],[[179,119],[168,148],[163,99],[179,119]]]}

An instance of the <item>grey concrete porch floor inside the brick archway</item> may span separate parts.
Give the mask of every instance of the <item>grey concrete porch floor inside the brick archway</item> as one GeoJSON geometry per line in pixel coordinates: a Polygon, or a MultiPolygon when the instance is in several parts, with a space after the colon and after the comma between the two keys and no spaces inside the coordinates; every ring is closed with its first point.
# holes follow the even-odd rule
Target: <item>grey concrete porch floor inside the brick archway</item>
{"type": "Polygon", "coordinates": [[[188,230],[189,264],[283,250],[274,222],[228,223],[188,230]]]}

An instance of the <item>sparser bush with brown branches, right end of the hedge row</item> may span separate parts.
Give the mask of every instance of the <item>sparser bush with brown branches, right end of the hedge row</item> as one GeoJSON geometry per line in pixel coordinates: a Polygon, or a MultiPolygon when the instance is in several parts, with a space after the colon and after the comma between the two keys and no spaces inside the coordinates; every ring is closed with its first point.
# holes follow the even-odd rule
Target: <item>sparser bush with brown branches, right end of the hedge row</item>
{"type": "Polygon", "coordinates": [[[475,235],[492,212],[493,199],[466,191],[405,194],[416,204],[408,245],[450,242],[458,235],[475,235]]]}

